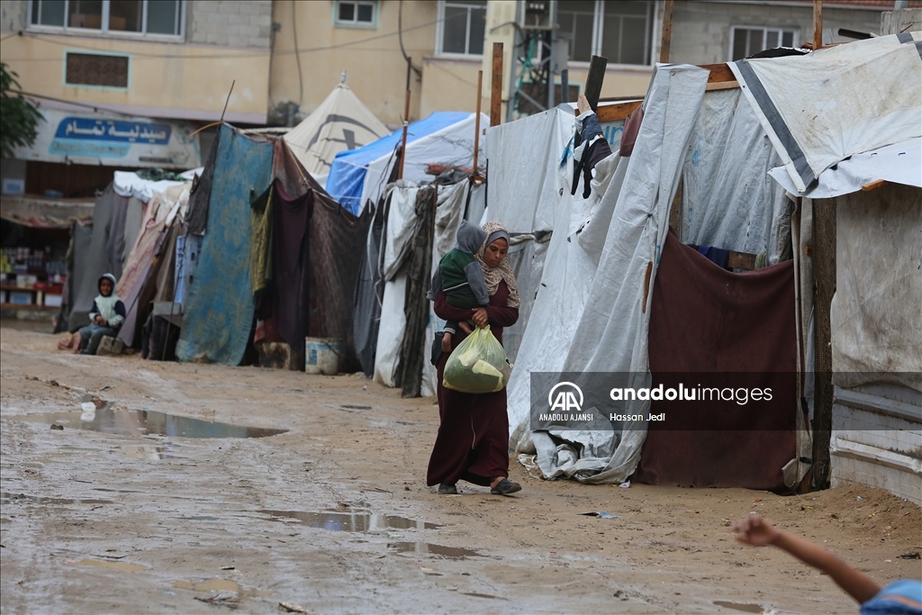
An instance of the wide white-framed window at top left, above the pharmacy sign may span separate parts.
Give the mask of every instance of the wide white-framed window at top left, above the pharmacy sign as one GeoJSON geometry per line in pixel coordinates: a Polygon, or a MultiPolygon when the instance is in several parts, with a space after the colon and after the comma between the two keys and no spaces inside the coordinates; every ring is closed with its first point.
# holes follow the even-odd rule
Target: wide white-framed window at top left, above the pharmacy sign
{"type": "Polygon", "coordinates": [[[30,24],[181,36],[183,8],[183,0],[32,0],[30,24]]]}

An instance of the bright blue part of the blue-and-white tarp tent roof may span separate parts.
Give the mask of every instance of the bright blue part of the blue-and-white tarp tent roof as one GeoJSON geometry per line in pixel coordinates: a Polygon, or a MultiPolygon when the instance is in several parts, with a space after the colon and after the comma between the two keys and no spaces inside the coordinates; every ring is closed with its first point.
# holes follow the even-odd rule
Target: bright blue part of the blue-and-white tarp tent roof
{"type": "MultiPolygon", "coordinates": [[[[469,112],[435,112],[419,122],[409,124],[407,143],[431,135],[452,124],[470,117],[469,112]]],[[[368,165],[384,156],[390,156],[403,138],[403,128],[390,135],[382,136],[361,148],[341,151],[333,159],[330,174],[326,178],[326,192],[339,201],[340,205],[358,215],[361,210],[361,193],[365,185],[368,165]]]]}

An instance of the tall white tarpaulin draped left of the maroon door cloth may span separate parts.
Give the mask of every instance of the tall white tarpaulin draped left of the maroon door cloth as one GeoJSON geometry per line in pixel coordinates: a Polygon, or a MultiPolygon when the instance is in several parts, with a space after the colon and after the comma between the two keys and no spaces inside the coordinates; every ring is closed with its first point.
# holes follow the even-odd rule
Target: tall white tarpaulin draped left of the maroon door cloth
{"type": "MultiPolygon", "coordinates": [[[[537,449],[538,467],[546,478],[620,482],[636,467],[643,425],[627,425],[621,434],[554,433],[580,445],[581,455],[573,455],[575,446],[559,449],[548,432],[530,434],[529,447],[529,373],[621,372],[649,379],[649,311],[642,310],[649,296],[644,298],[644,291],[653,291],[669,205],[707,77],[706,70],[694,66],[657,67],[632,157],[616,154],[603,160],[597,167],[598,197],[573,199],[571,215],[563,207],[558,212],[550,266],[509,386],[510,423],[514,439],[520,438],[511,444],[520,451],[537,449]]],[[[641,414],[649,401],[635,404],[628,411],[641,414]]]]}

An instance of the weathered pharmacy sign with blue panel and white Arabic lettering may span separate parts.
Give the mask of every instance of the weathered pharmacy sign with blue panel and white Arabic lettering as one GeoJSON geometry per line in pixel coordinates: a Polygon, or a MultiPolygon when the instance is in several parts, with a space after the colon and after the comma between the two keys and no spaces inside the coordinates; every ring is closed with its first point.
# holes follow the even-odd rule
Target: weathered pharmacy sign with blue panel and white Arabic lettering
{"type": "Polygon", "coordinates": [[[19,160],[115,167],[190,169],[201,165],[195,127],[179,120],[152,120],[102,113],[41,109],[45,121],[19,160]]]}

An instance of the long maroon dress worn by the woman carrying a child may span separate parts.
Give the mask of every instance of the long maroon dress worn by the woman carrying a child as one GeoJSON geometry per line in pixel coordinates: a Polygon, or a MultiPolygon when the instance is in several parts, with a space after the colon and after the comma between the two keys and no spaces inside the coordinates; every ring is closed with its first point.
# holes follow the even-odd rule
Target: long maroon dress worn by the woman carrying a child
{"type": "MultiPolygon", "coordinates": [[[[506,306],[509,289],[504,281],[491,295],[487,305],[490,330],[502,344],[502,327],[518,320],[518,308],[506,306]]],[[[473,310],[455,308],[445,301],[445,293],[435,297],[435,313],[444,320],[470,320],[473,310]]],[[[452,336],[457,348],[467,333],[458,330],[452,336]]],[[[426,484],[454,485],[459,479],[489,487],[496,477],[509,476],[509,419],[506,415],[506,389],[497,393],[472,394],[447,389],[442,385],[445,361],[439,358],[438,397],[439,433],[435,437],[426,484]]]]}

